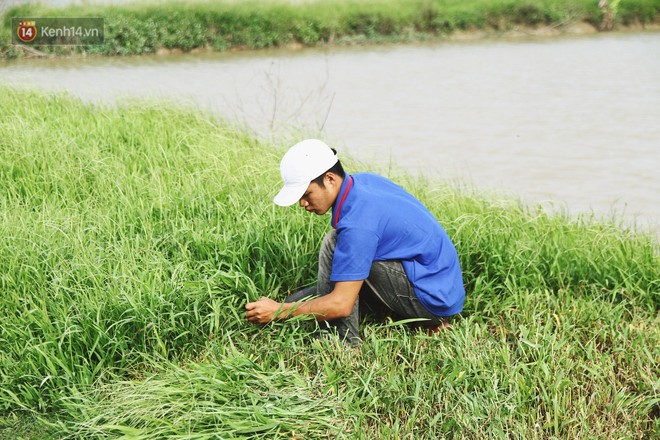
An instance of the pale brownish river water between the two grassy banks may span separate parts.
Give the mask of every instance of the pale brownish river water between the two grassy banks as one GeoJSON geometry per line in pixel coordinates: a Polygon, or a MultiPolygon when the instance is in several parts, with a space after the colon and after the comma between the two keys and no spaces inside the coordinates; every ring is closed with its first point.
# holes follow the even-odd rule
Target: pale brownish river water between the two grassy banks
{"type": "MultiPolygon", "coordinates": [[[[166,98],[286,145],[660,232],[660,33],[0,62],[0,83],[166,98]]],[[[277,164],[273,164],[277,166],[277,164]]]]}

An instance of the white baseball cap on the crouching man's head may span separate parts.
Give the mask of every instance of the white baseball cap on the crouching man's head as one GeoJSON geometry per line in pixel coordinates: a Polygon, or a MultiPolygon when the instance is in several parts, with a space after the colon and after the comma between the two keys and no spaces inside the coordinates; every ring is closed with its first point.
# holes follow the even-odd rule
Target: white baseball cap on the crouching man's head
{"type": "Polygon", "coordinates": [[[276,205],[290,206],[305,194],[310,182],[339,161],[325,142],[306,139],[289,148],[280,162],[284,186],[273,199],[276,205]]]}

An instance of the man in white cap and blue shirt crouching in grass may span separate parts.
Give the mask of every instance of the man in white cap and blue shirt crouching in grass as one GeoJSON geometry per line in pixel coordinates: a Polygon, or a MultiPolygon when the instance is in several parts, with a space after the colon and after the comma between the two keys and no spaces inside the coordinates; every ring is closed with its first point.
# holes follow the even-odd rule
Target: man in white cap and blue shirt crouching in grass
{"type": "Polygon", "coordinates": [[[392,181],[371,173],[347,175],[336,151],[308,139],[280,163],[280,206],[298,202],[331,225],[319,253],[318,283],[278,303],[262,297],[246,304],[248,320],[266,324],[313,315],[339,337],[359,343],[360,303],[429,328],[447,326],[463,310],[465,290],[456,248],[422,203],[392,181]],[[358,295],[361,301],[358,301],[358,295]],[[313,299],[299,302],[312,297],[313,299]]]}

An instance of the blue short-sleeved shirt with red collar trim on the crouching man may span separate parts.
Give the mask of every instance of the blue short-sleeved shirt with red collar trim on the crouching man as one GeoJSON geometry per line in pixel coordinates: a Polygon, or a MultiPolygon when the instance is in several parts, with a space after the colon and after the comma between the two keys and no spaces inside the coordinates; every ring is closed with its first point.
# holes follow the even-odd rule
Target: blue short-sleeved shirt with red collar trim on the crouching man
{"type": "Polygon", "coordinates": [[[364,280],[374,261],[400,260],[431,313],[463,310],[456,248],[433,214],[402,187],[376,174],[347,175],[331,222],[337,229],[331,281],[364,280]]]}

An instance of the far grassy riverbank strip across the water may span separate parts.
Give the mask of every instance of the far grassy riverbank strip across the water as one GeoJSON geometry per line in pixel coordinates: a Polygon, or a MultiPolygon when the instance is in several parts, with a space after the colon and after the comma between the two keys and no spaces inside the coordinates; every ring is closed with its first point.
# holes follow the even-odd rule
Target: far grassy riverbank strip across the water
{"type": "MultiPolygon", "coordinates": [[[[103,17],[105,42],[87,47],[46,47],[44,53],[134,55],[162,51],[260,49],[319,44],[418,41],[457,31],[502,32],[518,27],[562,29],[658,22],[658,0],[625,0],[609,10],[598,0],[341,0],[340,2],[136,3],[47,8],[25,5],[3,19],[0,50],[10,46],[10,17],[103,17]],[[609,24],[608,24],[609,23],[609,24]]],[[[28,53],[34,54],[34,51],[28,53]]]]}

